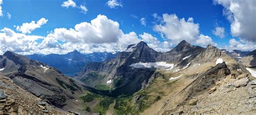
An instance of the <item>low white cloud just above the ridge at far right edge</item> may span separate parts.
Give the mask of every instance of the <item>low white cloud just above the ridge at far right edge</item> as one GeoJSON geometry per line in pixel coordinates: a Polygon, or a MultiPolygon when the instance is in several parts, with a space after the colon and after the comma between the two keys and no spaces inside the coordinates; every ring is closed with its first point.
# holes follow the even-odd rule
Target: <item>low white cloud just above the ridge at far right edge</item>
{"type": "Polygon", "coordinates": [[[245,41],[240,39],[239,41],[235,39],[230,39],[229,46],[225,46],[225,49],[228,49],[229,51],[233,51],[234,49],[239,49],[241,51],[253,51],[256,49],[256,44],[250,41],[245,41]]]}

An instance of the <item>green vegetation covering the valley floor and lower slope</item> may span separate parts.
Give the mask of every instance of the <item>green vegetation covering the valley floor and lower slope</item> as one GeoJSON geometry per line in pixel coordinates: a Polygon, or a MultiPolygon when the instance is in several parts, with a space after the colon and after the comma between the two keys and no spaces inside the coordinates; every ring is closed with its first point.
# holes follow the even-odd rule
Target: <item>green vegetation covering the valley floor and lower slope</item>
{"type": "MultiPolygon", "coordinates": [[[[91,111],[97,113],[105,114],[106,111],[110,109],[110,105],[114,103],[113,108],[111,106],[114,114],[139,114],[140,112],[143,112],[144,110],[149,108],[152,104],[161,100],[164,96],[166,96],[173,90],[170,89],[170,87],[177,81],[170,82],[170,77],[170,75],[159,76],[150,83],[149,87],[136,92],[132,96],[119,96],[117,98],[113,98],[108,96],[87,94],[82,98],[85,104],[89,105],[91,111]],[[137,97],[136,100],[134,100],[134,97],[137,97]],[[92,100],[95,100],[97,104],[90,106],[90,102],[92,100]]],[[[118,85],[118,82],[119,78],[116,78],[113,81],[113,84],[118,85]]],[[[110,90],[110,88],[104,84],[95,85],[95,88],[100,90],[110,90]]]]}

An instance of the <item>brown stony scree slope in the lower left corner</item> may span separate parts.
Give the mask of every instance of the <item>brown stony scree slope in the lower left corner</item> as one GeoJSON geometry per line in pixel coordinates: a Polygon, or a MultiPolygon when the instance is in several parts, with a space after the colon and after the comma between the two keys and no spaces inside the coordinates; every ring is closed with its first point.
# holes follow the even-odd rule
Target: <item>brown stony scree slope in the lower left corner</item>
{"type": "Polygon", "coordinates": [[[75,114],[60,112],[42,99],[0,76],[0,114],[75,114]]]}

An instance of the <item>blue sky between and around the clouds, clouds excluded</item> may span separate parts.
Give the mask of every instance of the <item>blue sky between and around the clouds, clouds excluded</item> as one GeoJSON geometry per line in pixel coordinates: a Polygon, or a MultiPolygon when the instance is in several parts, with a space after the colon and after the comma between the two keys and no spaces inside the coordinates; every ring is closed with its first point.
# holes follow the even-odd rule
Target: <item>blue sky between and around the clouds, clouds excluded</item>
{"type": "MultiPolygon", "coordinates": [[[[71,1],[71,0],[69,0],[71,1]]],[[[135,32],[138,36],[138,39],[144,39],[140,37],[140,34],[149,33],[152,37],[157,38],[159,42],[170,42],[170,47],[174,47],[177,42],[173,42],[172,34],[168,32],[164,32],[162,30],[157,30],[155,27],[156,25],[168,26],[163,23],[163,14],[167,15],[176,15],[178,19],[185,18],[185,23],[188,22],[188,18],[193,18],[193,24],[198,24],[199,28],[197,36],[204,35],[210,37],[212,42],[210,44],[217,45],[220,48],[241,48],[241,45],[250,44],[250,42],[255,42],[255,38],[245,38],[245,37],[255,37],[255,33],[242,33],[238,32],[235,33],[231,31],[231,24],[234,23],[232,19],[228,19],[228,16],[223,11],[230,11],[231,16],[235,17],[238,15],[239,12],[232,11],[230,9],[230,4],[234,3],[235,1],[230,1],[229,5],[223,1],[211,1],[211,0],[197,0],[197,1],[168,1],[168,0],[158,0],[158,1],[146,1],[146,0],[129,0],[129,1],[114,1],[110,0],[112,3],[117,3],[115,8],[111,8],[108,1],[103,0],[73,0],[76,4],[75,7],[69,6],[65,7],[62,6],[64,2],[68,2],[68,0],[3,0],[2,4],[2,17],[0,13],[0,30],[3,28],[9,28],[10,30],[14,31],[15,33],[22,33],[21,31],[17,30],[17,26],[22,26],[23,23],[30,23],[32,20],[38,21],[41,18],[45,18],[47,22],[43,25],[40,25],[39,28],[36,28],[31,31],[31,33],[23,33],[25,35],[38,35],[43,37],[41,39],[37,39],[36,41],[41,44],[42,41],[49,35],[49,33],[53,32],[56,28],[74,28],[75,25],[87,22],[90,23],[91,20],[96,19],[98,15],[106,16],[107,19],[116,21],[119,24],[119,29],[123,31],[122,34],[127,34],[130,32],[135,32]],[[79,8],[80,5],[86,7],[87,11],[82,12],[79,8]],[[8,13],[11,15],[8,18],[8,13]],[[153,14],[157,14],[159,20],[153,17],[153,14]],[[141,19],[144,18],[146,25],[142,25],[141,19]],[[221,31],[219,34],[224,35],[214,35],[215,29],[217,27],[224,28],[224,31],[221,31]],[[165,37],[162,37],[161,34],[164,34],[165,37]],[[244,34],[252,34],[252,35],[244,35],[244,34]],[[238,42],[236,46],[231,45],[231,40],[234,42],[238,42]],[[239,46],[240,45],[240,46],[239,46]]],[[[1,0],[0,0],[1,2],[1,0]]],[[[250,3],[251,1],[248,0],[250,3]]],[[[242,8],[242,3],[240,9],[242,8]]],[[[251,3],[255,6],[255,2],[252,1],[251,3]]],[[[250,10],[250,9],[249,9],[250,10]]],[[[246,10],[245,10],[246,11],[246,10]]],[[[252,12],[255,9],[252,9],[252,12]]],[[[252,20],[255,18],[255,14],[252,15],[252,20]]],[[[240,19],[238,21],[244,22],[244,20],[240,19]]],[[[166,23],[166,22],[165,22],[166,23]]],[[[241,23],[242,25],[242,23],[241,23]]],[[[252,25],[255,25],[255,22],[252,22],[252,25]]],[[[242,26],[247,26],[246,24],[242,26]]],[[[167,27],[168,28],[168,27],[167,27]]],[[[249,27],[250,28],[250,27],[249,27]]],[[[183,29],[183,28],[180,28],[183,29]]],[[[255,29],[255,28],[252,28],[255,29]]],[[[254,30],[255,31],[255,30],[254,30]]],[[[3,32],[3,31],[2,31],[3,32]]],[[[253,32],[253,30],[251,31],[253,32]]],[[[177,35],[176,35],[177,36],[177,35]]],[[[87,37],[87,36],[85,36],[87,37]]],[[[0,38],[1,39],[1,38],[0,38]]],[[[79,38],[80,39],[80,38],[79,38]]],[[[82,39],[82,38],[81,38],[82,39]]],[[[177,38],[178,39],[178,38],[177,38]]],[[[186,40],[186,38],[184,38],[186,40]]],[[[202,38],[203,39],[203,38],[202,38]]],[[[67,42],[72,41],[68,40],[59,40],[56,38],[58,42],[55,44],[63,45],[67,42]]],[[[192,39],[190,39],[192,40],[192,39]]],[[[196,39],[195,39],[196,40],[196,39]]],[[[146,40],[145,40],[146,41],[146,40]]],[[[151,40],[152,41],[152,40],[151,40]]],[[[189,41],[189,40],[188,40],[189,41]]],[[[1,42],[1,41],[0,41],[1,42]]],[[[32,41],[29,41],[32,42],[32,41]]],[[[104,44],[107,44],[106,42],[104,44]]],[[[98,45],[95,42],[85,42],[88,45],[98,45]]],[[[112,42],[111,42],[112,44],[112,42]]],[[[153,44],[153,43],[152,43],[153,44]]],[[[204,44],[199,44],[198,42],[192,43],[199,46],[205,46],[204,44]]],[[[206,43],[205,43],[206,44],[206,43]]],[[[250,44],[251,45],[251,44],[250,44]]],[[[99,46],[101,47],[102,43],[99,46]]],[[[153,46],[153,45],[152,45],[153,46]]],[[[242,50],[252,50],[255,48],[255,45],[251,45],[251,48],[244,48],[242,50]]],[[[5,46],[11,47],[11,46],[5,46]]],[[[38,46],[39,47],[39,46],[38,46]]],[[[41,46],[42,47],[42,46],[41,46]]],[[[63,49],[63,46],[59,48],[63,49]]],[[[91,47],[91,46],[90,46],[91,47]]],[[[56,47],[54,47],[56,48],[56,47]]],[[[104,46],[104,48],[106,48],[104,46]]],[[[15,48],[9,48],[15,50],[15,48]]],[[[19,50],[19,52],[30,52],[36,53],[42,50],[47,52],[46,48],[39,48],[37,51],[30,52],[29,49],[26,50],[19,50]]],[[[121,50],[122,48],[112,48],[110,51],[113,52],[114,50],[121,50]]],[[[49,52],[53,50],[53,47],[49,49],[49,52]]],[[[59,51],[58,50],[58,51],[59,51]]],[[[71,51],[73,49],[69,49],[67,51],[71,51]]],[[[89,52],[102,52],[106,51],[101,49],[78,49],[81,52],[89,53],[89,52]]],[[[4,52],[4,49],[2,50],[4,52]]],[[[17,52],[17,51],[16,51],[17,52]]],[[[64,51],[62,51],[64,53],[64,51]]],[[[57,52],[52,52],[57,53],[57,52]]]]}

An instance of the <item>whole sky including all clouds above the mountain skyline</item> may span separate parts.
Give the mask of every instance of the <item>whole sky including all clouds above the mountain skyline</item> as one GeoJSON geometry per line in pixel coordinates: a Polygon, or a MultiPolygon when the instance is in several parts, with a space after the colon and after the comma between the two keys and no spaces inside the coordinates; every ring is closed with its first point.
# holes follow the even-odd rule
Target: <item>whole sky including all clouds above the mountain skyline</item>
{"type": "Polygon", "coordinates": [[[180,41],[256,49],[255,0],[0,0],[0,54],[159,52],[180,41]]]}

